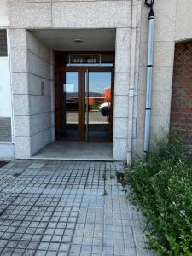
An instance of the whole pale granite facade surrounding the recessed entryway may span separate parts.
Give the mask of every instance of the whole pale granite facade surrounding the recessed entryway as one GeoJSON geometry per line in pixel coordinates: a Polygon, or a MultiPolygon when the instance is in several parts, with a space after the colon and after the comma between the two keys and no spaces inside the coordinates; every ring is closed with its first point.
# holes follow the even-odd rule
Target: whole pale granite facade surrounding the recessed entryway
{"type": "MultiPolygon", "coordinates": [[[[17,158],[55,140],[53,49],[32,29],[116,30],[113,159],[143,155],[148,7],[142,0],[9,0],[13,139],[17,158]]],[[[169,131],[175,43],[192,38],[190,0],[154,4],[151,143],[169,131]]]]}

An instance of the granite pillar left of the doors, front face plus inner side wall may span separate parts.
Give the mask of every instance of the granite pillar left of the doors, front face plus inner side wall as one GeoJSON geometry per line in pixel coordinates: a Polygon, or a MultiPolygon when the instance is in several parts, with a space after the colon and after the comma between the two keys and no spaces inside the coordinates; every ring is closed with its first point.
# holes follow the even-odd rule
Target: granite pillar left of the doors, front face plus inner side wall
{"type": "Polygon", "coordinates": [[[16,157],[26,158],[52,141],[51,51],[26,29],[11,29],[16,157]]]}

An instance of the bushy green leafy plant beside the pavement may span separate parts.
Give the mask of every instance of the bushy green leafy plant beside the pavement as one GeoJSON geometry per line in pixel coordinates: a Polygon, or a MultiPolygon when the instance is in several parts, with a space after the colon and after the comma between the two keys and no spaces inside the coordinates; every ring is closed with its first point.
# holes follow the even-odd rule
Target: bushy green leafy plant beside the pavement
{"type": "Polygon", "coordinates": [[[125,185],[146,219],[149,247],[158,255],[192,256],[192,163],[181,140],[161,140],[148,160],[125,170],[125,185]]]}

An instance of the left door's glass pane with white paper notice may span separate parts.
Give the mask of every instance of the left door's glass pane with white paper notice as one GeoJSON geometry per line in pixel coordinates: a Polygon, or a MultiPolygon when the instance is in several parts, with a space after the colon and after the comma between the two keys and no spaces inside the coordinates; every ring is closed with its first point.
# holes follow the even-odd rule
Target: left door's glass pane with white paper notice
{"type": "Polygon", "coordinates": [[[61,137],[79,137],[79,72],[65,72],[61,100],[61,137]]]}

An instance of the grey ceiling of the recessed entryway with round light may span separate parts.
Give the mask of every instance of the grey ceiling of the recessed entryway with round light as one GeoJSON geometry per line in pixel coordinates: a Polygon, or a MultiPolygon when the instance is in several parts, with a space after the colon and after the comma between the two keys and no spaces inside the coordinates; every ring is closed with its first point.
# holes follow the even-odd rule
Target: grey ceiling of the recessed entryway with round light
{"type": "Polygon", "coordinates": [[[51,49],[115,49],[115,29],[37,29],[32,32],[51,49]],[[81,43],[74,40],[80,39],[81,43]]]}

